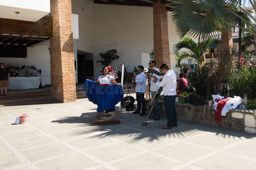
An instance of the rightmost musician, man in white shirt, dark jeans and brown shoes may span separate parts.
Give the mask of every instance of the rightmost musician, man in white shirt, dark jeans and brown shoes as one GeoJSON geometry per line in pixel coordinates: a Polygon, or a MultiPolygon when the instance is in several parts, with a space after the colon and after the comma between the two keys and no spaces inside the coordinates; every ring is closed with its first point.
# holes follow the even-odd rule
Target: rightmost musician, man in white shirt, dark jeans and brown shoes
{"type": "Polygon", "coordinates": [[[155,82],[156,85],[163,87],[164,108],[167,116],[167,126],[163,126],[162,129],[172,129],[172,127],[178,126],[175,109],[176,74],[166,64],[162,64],[159,70],[164,73],[164,77],[155,82]]]}

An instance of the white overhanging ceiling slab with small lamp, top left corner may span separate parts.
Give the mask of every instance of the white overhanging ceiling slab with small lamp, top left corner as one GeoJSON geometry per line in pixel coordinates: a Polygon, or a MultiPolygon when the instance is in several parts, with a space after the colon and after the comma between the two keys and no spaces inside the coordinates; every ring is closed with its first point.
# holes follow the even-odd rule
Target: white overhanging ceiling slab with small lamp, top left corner
{"type": "Polygon", "coordinates": [[[36,22],[48,13],[50,0],[0,0],[0,18],[36,22]]]}

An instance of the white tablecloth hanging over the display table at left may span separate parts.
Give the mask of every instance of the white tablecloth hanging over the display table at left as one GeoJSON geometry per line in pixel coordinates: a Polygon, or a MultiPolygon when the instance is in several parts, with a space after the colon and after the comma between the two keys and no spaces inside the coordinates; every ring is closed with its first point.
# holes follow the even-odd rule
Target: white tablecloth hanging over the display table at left
{"type": "Polygon", "coordinates": [[[40,83],[41,77],[10,77],[7,89],[37,89],[40,83]]]}

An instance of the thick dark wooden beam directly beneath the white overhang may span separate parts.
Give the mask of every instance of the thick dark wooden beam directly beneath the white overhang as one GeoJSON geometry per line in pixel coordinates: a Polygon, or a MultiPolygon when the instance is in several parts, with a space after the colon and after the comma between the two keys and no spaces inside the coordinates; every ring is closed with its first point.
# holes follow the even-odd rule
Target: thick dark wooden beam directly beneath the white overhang
{"type": "Polygon", "coordinates": [[[36,22],[0,18],[0,33],[52,37],[52,17],[36,22]]]}

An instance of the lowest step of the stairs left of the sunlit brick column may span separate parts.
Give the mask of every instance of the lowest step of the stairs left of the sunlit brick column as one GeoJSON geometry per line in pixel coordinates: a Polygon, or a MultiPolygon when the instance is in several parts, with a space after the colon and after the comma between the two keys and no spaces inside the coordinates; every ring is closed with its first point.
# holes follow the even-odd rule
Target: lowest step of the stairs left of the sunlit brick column
{"type": "Polygon", "coordinates": [[[35,103],[35,102],[46,102],[52,101],[51,96],[42,96],[42,97],[28,97],[28,98],[18,98],[18,99],[5,99],[0,101],[0,105],[6,104],[21,104],[21,103],[35,103]]]}

